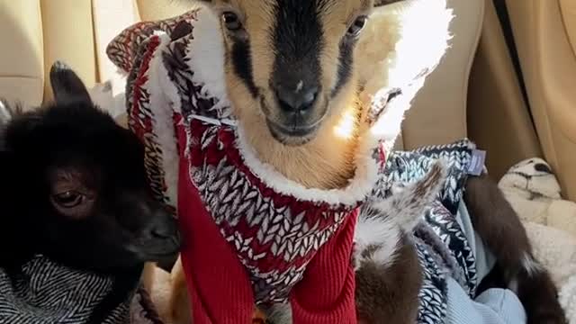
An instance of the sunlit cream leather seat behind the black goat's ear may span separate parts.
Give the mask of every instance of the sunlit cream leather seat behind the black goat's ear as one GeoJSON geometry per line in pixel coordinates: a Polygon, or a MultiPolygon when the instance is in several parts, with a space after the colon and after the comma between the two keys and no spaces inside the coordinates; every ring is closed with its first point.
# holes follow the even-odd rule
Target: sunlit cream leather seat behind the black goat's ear
{"type": "MultiPolygon", "coordinates": [[[[184,3],[184,2],[180,2],[184,3]]],[[[0,0],[0,97],[35,106],[49,100],[46,72],[56,59],[86,85],[114,77],[104,50],[131,23],[182,12],[157,0],[0,0]]]]}

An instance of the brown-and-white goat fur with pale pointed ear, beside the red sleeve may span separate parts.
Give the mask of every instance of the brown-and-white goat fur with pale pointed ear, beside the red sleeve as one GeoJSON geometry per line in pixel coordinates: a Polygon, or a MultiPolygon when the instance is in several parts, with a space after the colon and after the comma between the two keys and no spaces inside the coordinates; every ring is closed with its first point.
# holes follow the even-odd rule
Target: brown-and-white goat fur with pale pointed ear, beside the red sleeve
{"type": "MultiPolygon", "coordinates": [[[[447,168],[434,164],[415,184],[382,202],[368,202],[356,225],[356,309],[362,324],[414,323],[422,269],[412,230],[442,188],[447,168]],[[374,235],[385,232],[383,235],[374,235]]],[[[395,190],[392,189],[392,192],[395,190]]]]}

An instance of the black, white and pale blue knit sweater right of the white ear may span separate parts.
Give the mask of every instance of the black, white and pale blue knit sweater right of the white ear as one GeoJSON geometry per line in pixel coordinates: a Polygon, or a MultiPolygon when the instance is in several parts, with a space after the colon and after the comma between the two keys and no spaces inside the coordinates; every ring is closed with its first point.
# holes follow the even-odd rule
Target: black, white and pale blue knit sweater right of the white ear
{"type": "Polygon", "coordinates": [[[443,323],[446,317],[446,277],[452,276],[471,298],[475,298],[478,278],[473,250],[457,220],[466,179],[470,176],[477,151],[467,139],[450,145],[429,146],[414,151],[394,151],[386,165],[386,176],[376,196],[389,197],[387,185],[408,184],[427,174],[439,158],[447,161],[449,172],[437,201],[422,216],[414,231],[424,284],[419,299],[419,323],[443,323]]]}

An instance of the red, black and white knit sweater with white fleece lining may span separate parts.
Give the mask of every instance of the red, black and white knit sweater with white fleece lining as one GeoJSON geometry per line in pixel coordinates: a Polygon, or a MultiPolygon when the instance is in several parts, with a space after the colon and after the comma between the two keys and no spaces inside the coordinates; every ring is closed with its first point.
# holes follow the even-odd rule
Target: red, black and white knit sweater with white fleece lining
{"type": "Polygon", "coordinates": [[[382,152],[336,191],[259,162],[222,97],[218,20],[208,17],[161,22],[163,35],[137,24],[108,49],[129,72],[130,130],[146,145],[152,190],[177,210],[193,323],[249,323],[255,305],[288,301],[295,324],[356,323],[353,234],[382,152]],[[192,28],[171,35],[182,20],[192,28]]]}

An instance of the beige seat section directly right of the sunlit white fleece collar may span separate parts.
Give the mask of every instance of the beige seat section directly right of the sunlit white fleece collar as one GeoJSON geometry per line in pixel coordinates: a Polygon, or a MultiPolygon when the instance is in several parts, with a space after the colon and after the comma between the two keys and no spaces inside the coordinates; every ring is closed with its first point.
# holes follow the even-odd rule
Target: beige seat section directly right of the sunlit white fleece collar
{"type": "Polygon", "coordinates": [[[444,144],[468,134],[468,79],[482,32],[483,0],[448,0],[454,11],[453,39],[437,69],[428,76],[402,130],[404,148],[444,144]]]}

